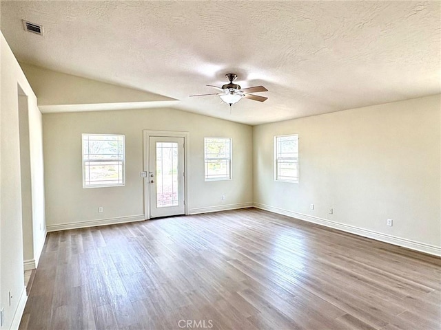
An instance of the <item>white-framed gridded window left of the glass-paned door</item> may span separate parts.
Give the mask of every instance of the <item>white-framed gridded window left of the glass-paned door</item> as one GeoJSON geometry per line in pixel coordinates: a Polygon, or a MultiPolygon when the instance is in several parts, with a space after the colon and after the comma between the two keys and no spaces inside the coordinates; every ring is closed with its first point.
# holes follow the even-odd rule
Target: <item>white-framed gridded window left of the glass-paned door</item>
{"type": "Polygon", "coordinates": [[[83,134],[83,188],[124,185],[124,135],[83,134]]]}

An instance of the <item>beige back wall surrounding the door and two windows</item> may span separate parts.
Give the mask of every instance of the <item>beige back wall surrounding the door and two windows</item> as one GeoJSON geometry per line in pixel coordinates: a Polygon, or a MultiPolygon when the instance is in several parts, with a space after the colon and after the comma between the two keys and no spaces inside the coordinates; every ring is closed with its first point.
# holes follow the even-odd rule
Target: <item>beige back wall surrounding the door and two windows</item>
{"type": "MultiPolygon", "coordinates": [[[[252,203],[252,127],[174,109],[45,113],[43,115],[46,221],[69,223],[137,217],[143,209],[143,130],[188,131],[190,212],[252,203]],[[82,187],[81,133],[125,135],[124,187],[82,187]],[[232,137],[233,179],[204,181],[204,137],[232,137]],[[221,196],[225,195],[225,201],[221,196]],[[104,212],[99,213],[102,206],[104,212]]],[[[55,225],[55,227],[54,227],[55,225]]],[[[61,225],[61,226],[60,226],[61,225]]]]}

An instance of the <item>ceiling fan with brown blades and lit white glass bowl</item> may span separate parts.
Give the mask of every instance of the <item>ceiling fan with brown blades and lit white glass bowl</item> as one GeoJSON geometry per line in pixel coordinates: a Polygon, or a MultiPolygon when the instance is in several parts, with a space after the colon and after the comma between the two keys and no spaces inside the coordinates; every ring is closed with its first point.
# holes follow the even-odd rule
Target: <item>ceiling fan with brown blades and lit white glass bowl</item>
{"type": "Polygon", "coordinates": [[[207,85],[208,87],[213,87],[218,89],[220,93],[198,94],[198,95],[190,95],[190,96],[193,97],[193,96],[218,95],[223,100],[223,102],[229,104],[230,107],[232,106],[232,104],[238,102],[241,98],[249,98],[250,100],[255,100],[259,102],[263,102],[267,100],[265,96],[249,94],[249,93],[256,93],[259,91],[268,91],[268,89],[266,89],[265,87],[255,86],[255,87],[240,88],[239,85],[233,83],[233,81],[236,80],[237,78],[236,74],[225,74],[225,77],[227,77],[229,83],[223,85],[222,87],[207,85]]]}

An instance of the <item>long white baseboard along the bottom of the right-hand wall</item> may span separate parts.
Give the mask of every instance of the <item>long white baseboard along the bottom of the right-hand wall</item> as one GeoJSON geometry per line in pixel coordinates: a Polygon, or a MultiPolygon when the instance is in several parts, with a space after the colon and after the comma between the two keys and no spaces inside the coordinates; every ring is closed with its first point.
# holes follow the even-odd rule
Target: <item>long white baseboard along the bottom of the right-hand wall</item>
{"type": "Polygon", "coordinates": [[[319,217],[314,217],[308,214],[302,214],[291,210],[285,210],[283,208],[276,208],[274,206],[269,206],[262,203],[254,203],[254,207],[278,214],[283,214],[286,215],[287,217],[292,217],[303,221],[317,223],[318,225],[325,225],[326,227],[342,230],[343,232],[350,232],[351,234],[367,237],[368,239],[376,239],[377,241],[382,241],[385,243],[402,246],[403,248],[408,248],[411,250],[416,250],[427,254],[433,254],[435,256],[441,256],[441,247],[439,246],[420,243],[417,241],[412,241],[410,239],[402,239],[401,237],[383,234],[382,232],[375,232],[373,230],[359,228],[353,225],[345,225],[344,223],[339,223],[328,219],[322,219],[319,217]]]}

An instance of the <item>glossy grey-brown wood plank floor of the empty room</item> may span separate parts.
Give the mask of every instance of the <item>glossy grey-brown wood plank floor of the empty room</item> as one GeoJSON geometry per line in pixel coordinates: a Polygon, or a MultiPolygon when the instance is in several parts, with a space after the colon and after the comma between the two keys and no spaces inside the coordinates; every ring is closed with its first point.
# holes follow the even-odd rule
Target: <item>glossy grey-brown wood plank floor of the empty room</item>
{"type": "Polygon", "coordinates": [[[441,329],[439,258],[233,210],[51,232],[20,329],[441,329]]]}

